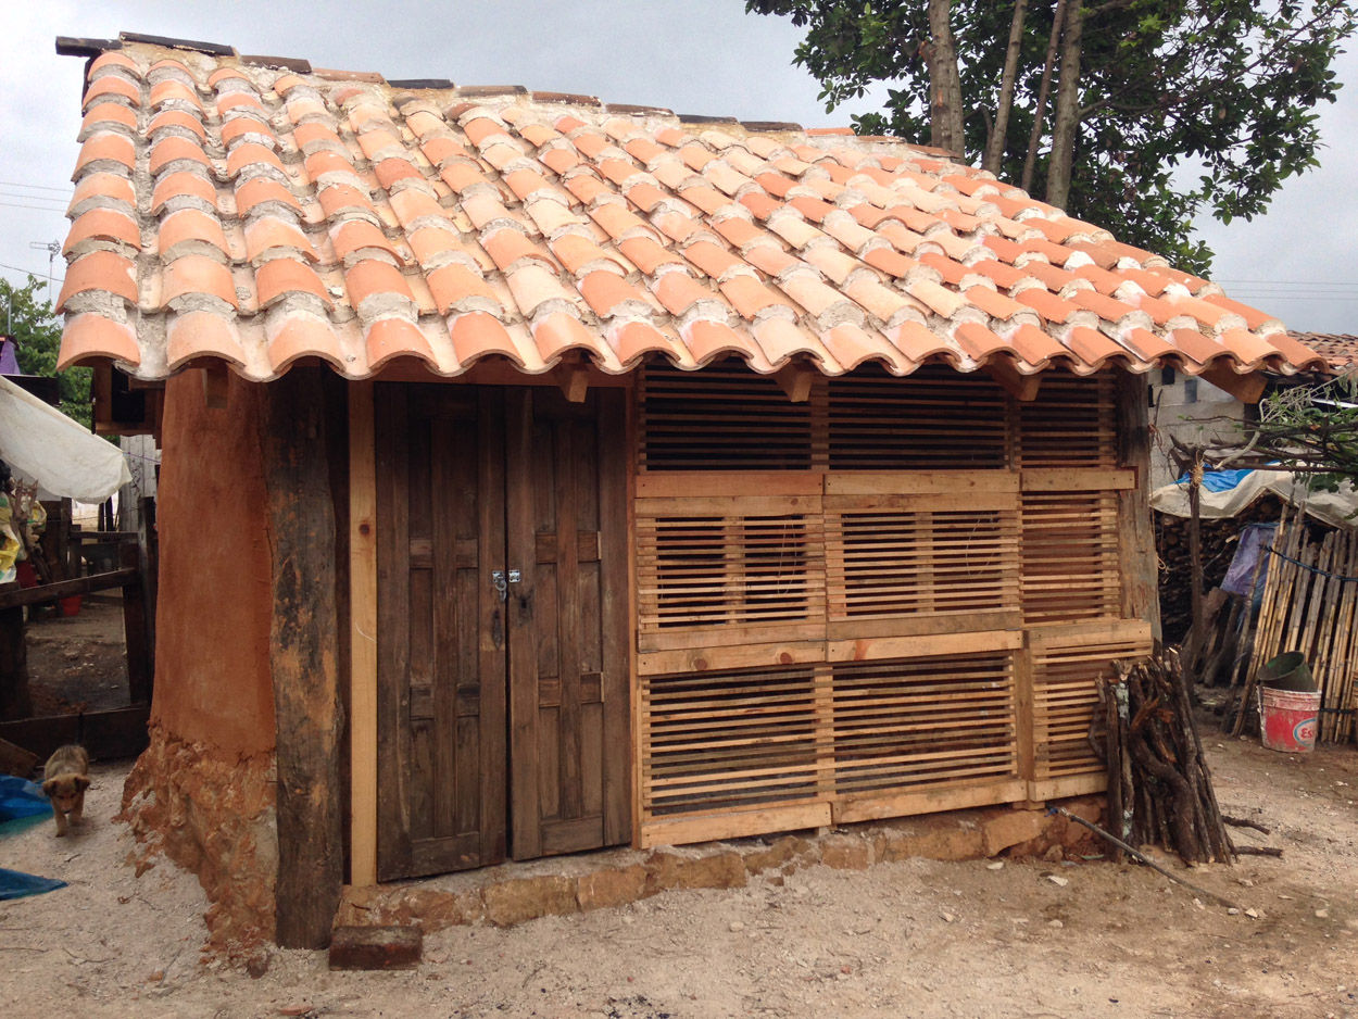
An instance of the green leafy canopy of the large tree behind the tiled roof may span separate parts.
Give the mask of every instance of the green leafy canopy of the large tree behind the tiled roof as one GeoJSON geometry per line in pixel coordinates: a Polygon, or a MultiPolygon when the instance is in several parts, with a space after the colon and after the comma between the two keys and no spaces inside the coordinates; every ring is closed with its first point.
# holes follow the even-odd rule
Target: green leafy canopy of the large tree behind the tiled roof
{"type": "MultiPolygon", "coordinates": [[[[794,61],[820,82],[827,110],[885,84],[885,109],[854,117],[856,129],[923,140],[930,113],[938,126],[929,91],[938,56],[928,18],[938,4],[949,0],[747,0],[746,10],[789,15],[807,29],[794,61]]],[[[1285,178],[1317,163],[1316,107],[1334,102],[1331,64],[1358,18],[1348,0],[1019,5],[1013,101],[998,166],[987,168],[1019,182],[1038,121],[1036,197],[1199,272],[1211,251],[1191,236],[1196,215],[1249,219],[1285,178]],[[1065,109],[1048,102],[1039,111],[1048,49],[1059,53],[1051,95],[1062,76],[1077,88],[1065,109]],[[1063,118],[1074,139],[1054,163],[1048,140],[1063,118]],[[1050,194],[1050,182],[1061,193],[1050,194]]],[[[1014,8],[1016,0],[951,0],[970,159],[986,151],[1001,111],[1014,8]]]]}

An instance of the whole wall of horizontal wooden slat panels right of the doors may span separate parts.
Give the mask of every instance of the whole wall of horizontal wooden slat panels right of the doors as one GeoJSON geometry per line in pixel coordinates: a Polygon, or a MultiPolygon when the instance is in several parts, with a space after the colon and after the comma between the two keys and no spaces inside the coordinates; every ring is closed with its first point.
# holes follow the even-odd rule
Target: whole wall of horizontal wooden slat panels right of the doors
{"type": "Polygon", "coordinates": [[[1089,791],[1095,678],[1149,645],[1115,383],[648,370],[642,844],[1089,791]]]}

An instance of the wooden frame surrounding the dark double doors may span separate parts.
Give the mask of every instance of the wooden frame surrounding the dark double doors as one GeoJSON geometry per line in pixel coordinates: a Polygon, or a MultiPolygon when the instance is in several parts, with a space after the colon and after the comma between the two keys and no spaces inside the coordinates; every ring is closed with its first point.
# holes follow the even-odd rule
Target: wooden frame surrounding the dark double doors
{"type": "MultiPolygon", "coordinates": [[[[395,380],[395,379],[394,379],[395,380]]],[[[463,385],[475,379],[440,379],[422,376],[420,382],[463,385]]],[[[492,382],[485,379],[482,382],[492,382]]],[[[496,378],[494,382],[501,382],[496,378]]],[[[553,376],[524,376],[515,374],[515,385],[555,386],[553,376]]],[[[626,488],[626,510],[623,518],[626,543],[626,569],[619,571],[626,583],[626,678],[629,709],[629,739],[625,746],[610,749],[611,753],[626,754],[629,762],[627,780],[631,814],[627,823],[617,829],[617,822],[607,826],[611,836],[625,838],[631,836],[631,844],[638,845],[637,803],[637,654],[636,654],[636,534],[633,505],[636,495],[636,409],[631,393],[634,378],[596,376],[591,372],[591,386],[626,390],[623,397],[622,435],[623,482],[626,488]]],[[[378,435],[375,380],[350,382],[348,385],[349,404],[349,883],[367,887],[378,883],[378,435]]],[[[619,577],[621,579],[621,577],[619,577]]]]}

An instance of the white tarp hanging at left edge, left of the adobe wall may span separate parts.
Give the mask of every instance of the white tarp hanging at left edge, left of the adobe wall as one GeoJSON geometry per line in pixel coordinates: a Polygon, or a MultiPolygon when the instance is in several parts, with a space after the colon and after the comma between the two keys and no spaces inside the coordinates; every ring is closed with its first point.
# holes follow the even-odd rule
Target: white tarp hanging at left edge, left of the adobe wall
{"type": "Polygon", "coordinates": [[[0,375],[0,459],[53,496],[102,503],[132,481],[122,450],[0,375]]]}

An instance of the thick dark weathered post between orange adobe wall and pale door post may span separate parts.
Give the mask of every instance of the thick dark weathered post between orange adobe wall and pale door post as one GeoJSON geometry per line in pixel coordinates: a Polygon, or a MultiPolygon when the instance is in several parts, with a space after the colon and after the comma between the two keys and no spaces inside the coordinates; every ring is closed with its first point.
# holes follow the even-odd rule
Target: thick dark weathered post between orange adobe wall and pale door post
{"type": "MultiPolygon", "coordinates": [[[[236,385],[244,383],[234,382],[232,387],[236,385]]],[[[269,666],[278,769],[274,936],[285,948],[323,948],[330,943],[344,882],[344,707],[335,618],[335,518],[323,452],[320,370],[293,368],[269,383],[262,417],[273,564],[269,666]]]]}

